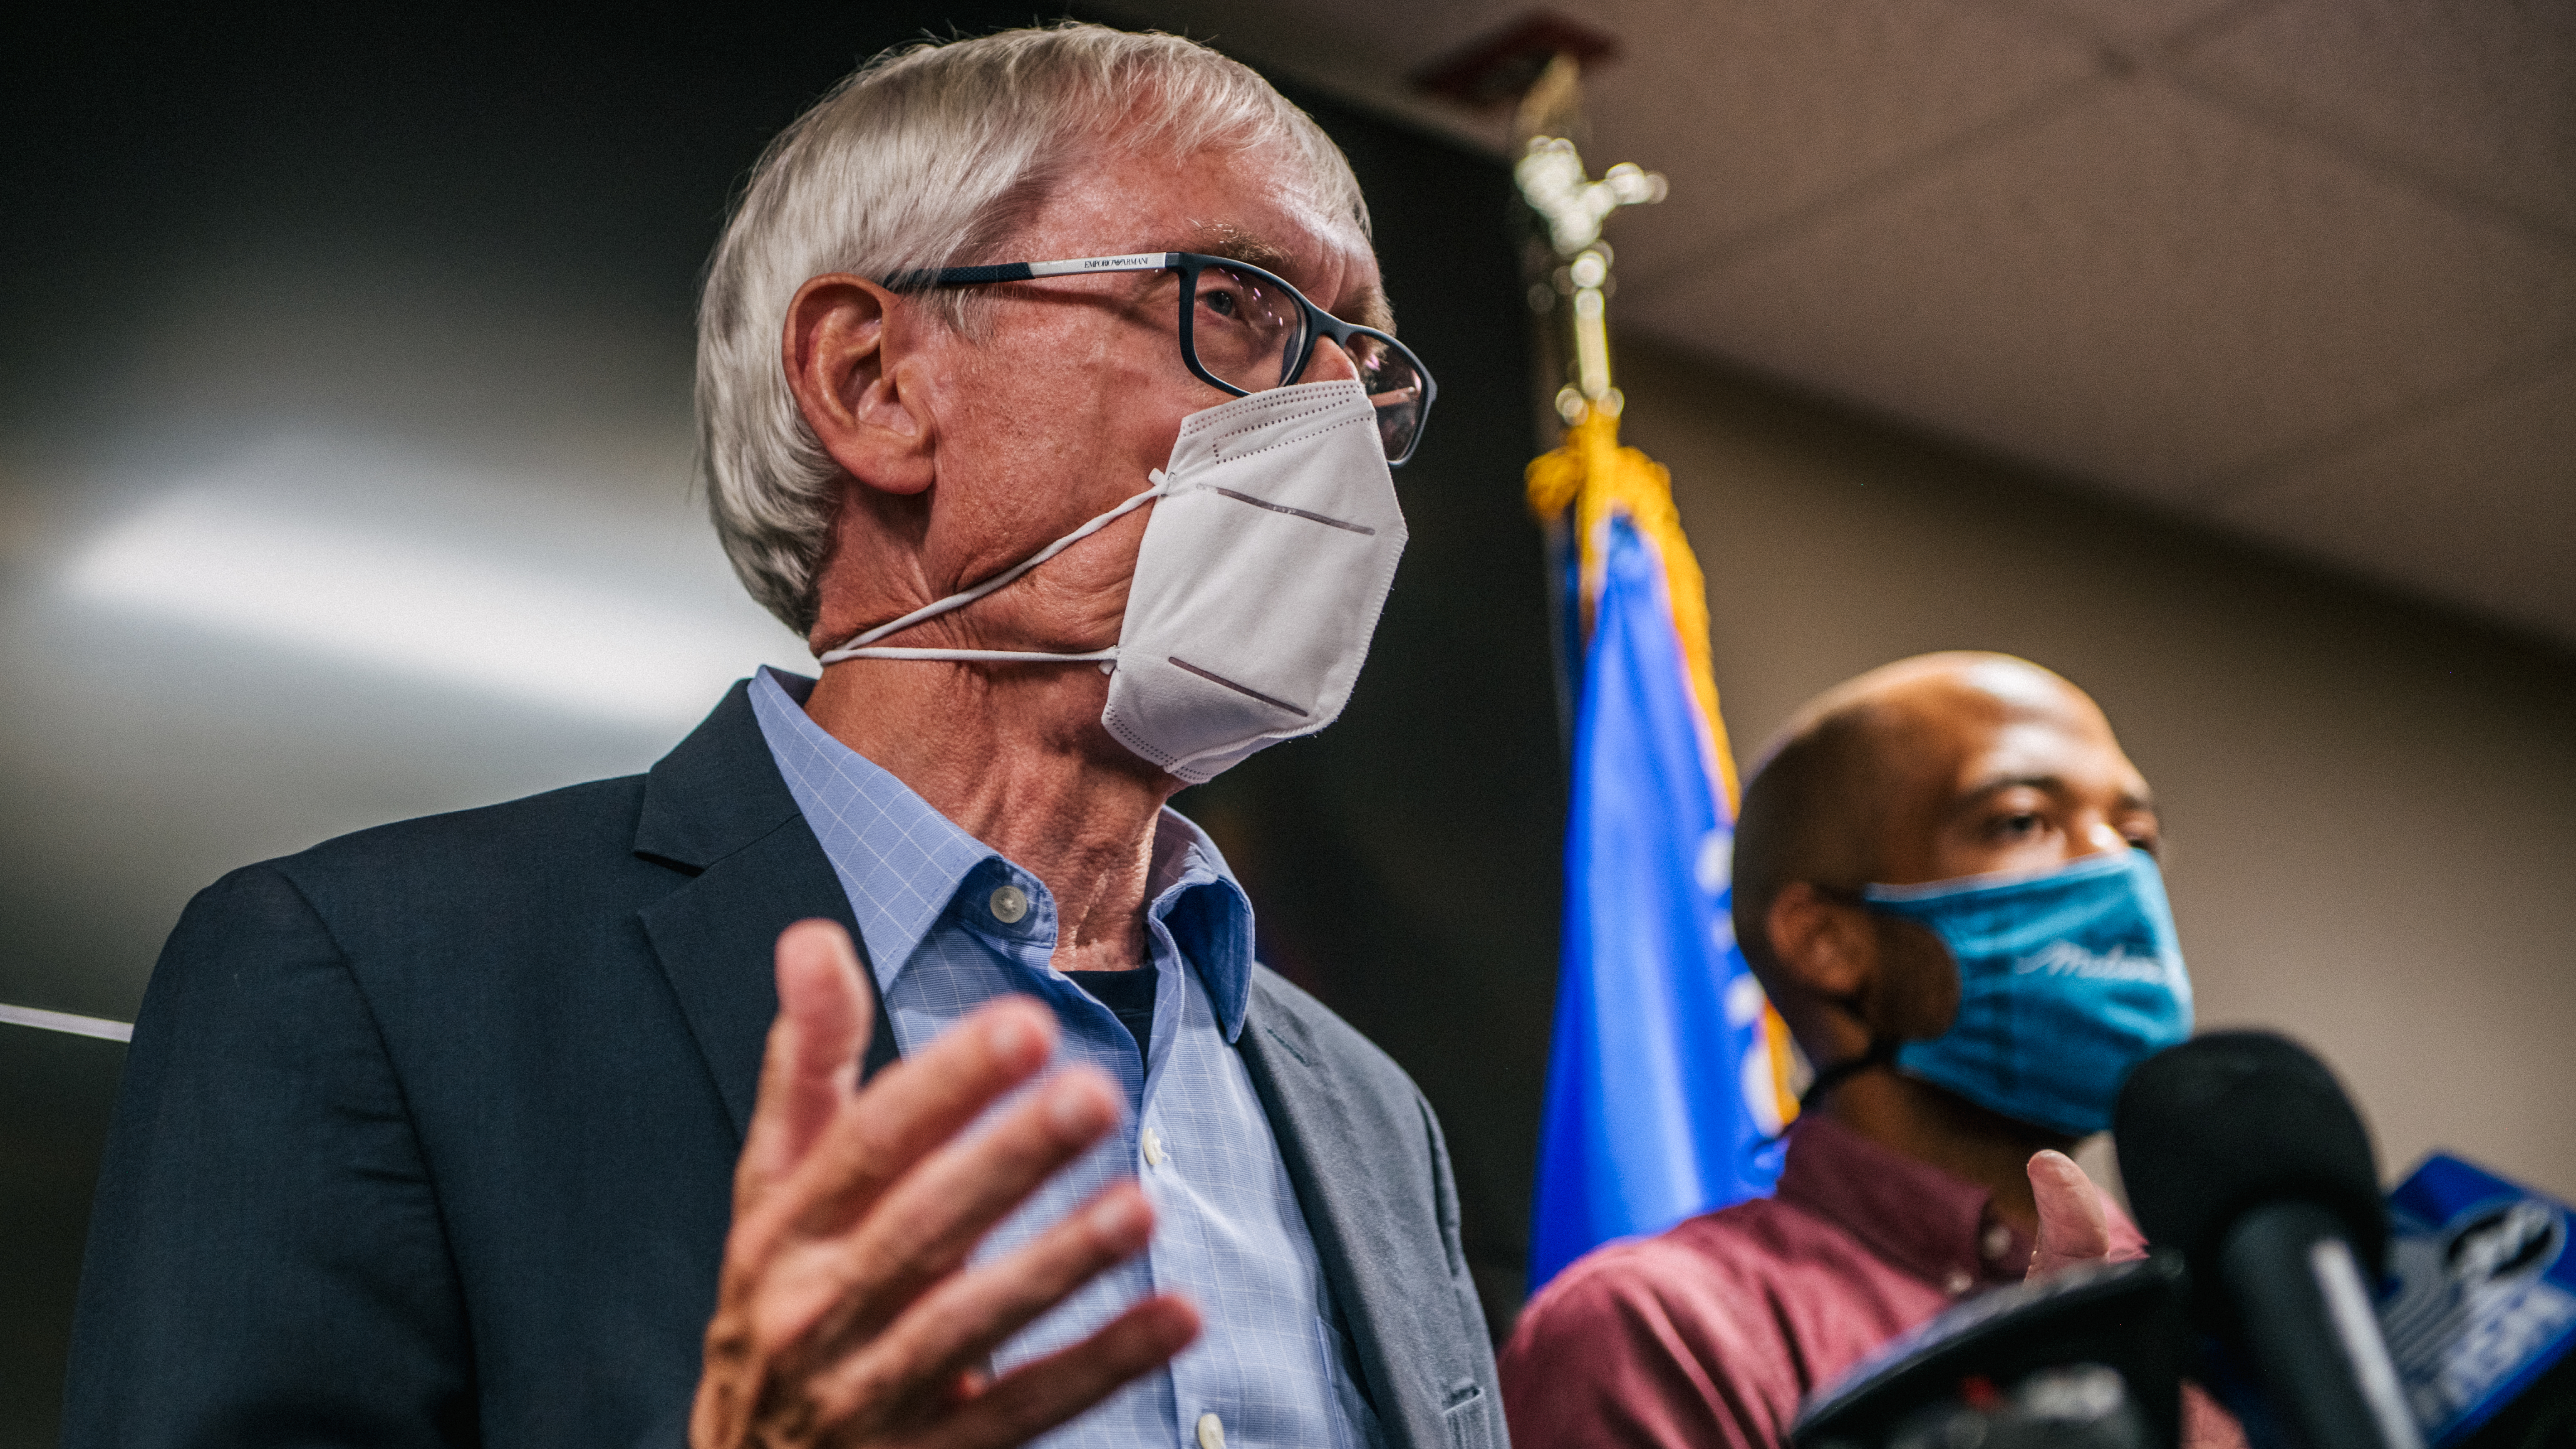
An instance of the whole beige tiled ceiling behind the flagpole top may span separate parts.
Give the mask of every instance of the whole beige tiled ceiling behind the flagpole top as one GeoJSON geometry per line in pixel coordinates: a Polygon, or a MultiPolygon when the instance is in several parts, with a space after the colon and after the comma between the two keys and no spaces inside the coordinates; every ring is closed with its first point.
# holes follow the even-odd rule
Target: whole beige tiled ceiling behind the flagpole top
{"type": "MultiPolygon", "coordinates": [[[[1510,144],[1406,77],[1533,5],[1108,5],[1510,144]]],[[[2576,343],[2576,3],[1561,10],[1620,44],[1584,157],[1672,178],[1610,224],[1620,330],[2576,645],[2527,382],[2576,343]]]]}

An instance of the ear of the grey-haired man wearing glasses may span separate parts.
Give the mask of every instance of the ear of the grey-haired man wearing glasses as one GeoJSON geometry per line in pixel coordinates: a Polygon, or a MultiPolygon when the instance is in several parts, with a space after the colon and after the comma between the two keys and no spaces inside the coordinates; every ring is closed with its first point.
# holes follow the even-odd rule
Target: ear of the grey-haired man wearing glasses
{"type": "Polygon", "coordinates": [[[796,410],[832,462],[884,492],[935,477],[927,333],[917,307],[863,276],[817,276],[788,302],[781,361],[796,410]]]}

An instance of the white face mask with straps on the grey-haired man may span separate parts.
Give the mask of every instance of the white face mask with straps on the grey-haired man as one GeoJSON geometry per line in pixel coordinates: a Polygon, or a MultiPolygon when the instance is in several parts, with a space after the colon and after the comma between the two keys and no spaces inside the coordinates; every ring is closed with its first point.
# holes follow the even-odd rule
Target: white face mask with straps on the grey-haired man
{"type": "Polygon", "coordinates": [[[1190,413],[1170,467],[1151,477],[1154,487],[1028,559],[878,624],[822,663],[1100,660],[1110,670],[1100,724],[1190,784],[1332,724],[1368,663],[1368,637],[1404,557],[1404,513],[1368,394],[1350,379],[1309,382],[1190,413]],[[984,598],[1146,503],[1157,508],[1136,549],[1118,647],[1048,655],[876,645],[984,598]]]}

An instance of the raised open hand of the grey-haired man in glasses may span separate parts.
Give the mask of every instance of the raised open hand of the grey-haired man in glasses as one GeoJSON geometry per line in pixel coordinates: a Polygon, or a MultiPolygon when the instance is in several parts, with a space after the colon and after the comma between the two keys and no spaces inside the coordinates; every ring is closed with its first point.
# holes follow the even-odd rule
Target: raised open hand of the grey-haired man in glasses
{"type": "Polygon", "coordinates": [[[848,933],[788,926],[696,1449],[1020,1444],[1198,1336],[1198,1312],[1159,1294],[989,1379],[981,1364],[1005,1338],[1146,1245],[1154,1209],[1121,1181],[1007,1258],[966,1266],[994,1222],[1118,1124],[1118,1091],[1069,1067],[961,1137],[1038,1075],[1054,1016],[1028,998],[987,1003],[860,1091],[868,1029],[848,933]]]}

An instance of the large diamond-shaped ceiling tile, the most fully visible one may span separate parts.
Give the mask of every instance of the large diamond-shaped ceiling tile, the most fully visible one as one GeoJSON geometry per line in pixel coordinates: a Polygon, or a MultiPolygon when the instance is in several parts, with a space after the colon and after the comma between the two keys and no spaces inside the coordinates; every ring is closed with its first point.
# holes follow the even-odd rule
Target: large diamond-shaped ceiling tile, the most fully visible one
{"type": "Polygon", "coordinates": [[[1620,320],[2190,503],[2576,335],[2576,273],[2151,77],[1620,320]]]}

